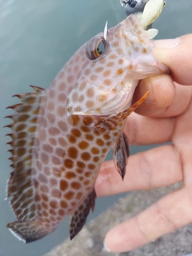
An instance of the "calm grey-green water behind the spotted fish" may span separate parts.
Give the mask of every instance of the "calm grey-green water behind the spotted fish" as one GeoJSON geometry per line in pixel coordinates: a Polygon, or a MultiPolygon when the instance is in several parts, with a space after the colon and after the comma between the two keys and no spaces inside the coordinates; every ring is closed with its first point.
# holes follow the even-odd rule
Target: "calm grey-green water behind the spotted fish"
{"type": "MultiPolygon", "coordinates": [[[[167,2],[155,23],[158,38],[190,33],[191,10],[191,0],[167,2]]],[[[68,218],[53,234],[27,245],[6,229],[6,223],[15,219],[8,201],[4,201],[11,169],[6,160],[9,146],[5,146],[9,140],[5,134],[10,130],[2,128],[10,121],[3,117],[11,114],[6,106],[18,102],[11,95],[31,91],[30,84],[48,87],[74,51],[103,30],[106,20],[114,26],[125,17],[118,0],[0,0],[0,256],[41,256],[68,236],[68,218]]],[[[146,149],[132,147],[131,152],[146,149]]],[[[88,221],[118,197],[98,198],[88,221]]]]}

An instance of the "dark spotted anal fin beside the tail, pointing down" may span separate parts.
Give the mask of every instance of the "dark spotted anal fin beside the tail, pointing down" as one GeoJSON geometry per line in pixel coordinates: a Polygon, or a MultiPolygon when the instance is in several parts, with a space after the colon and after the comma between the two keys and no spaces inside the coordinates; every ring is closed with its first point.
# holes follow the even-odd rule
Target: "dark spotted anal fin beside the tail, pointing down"
{"type": "Polygon", "coordinates": [[[86,223],[86,218],[90,213],[90,209],[94,211],[96,193],[93,190],[88,196],[84,199],[82,204],[78,206],[78,209],[75,210],[73,216],[70,219],[70,239],[73,239],[76,234],[86,223]]]}

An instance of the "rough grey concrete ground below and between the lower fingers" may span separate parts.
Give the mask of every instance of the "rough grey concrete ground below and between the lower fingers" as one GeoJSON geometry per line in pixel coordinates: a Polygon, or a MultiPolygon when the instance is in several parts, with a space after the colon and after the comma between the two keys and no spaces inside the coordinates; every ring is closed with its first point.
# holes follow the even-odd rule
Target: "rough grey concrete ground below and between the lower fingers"
{"type": "Polygon", "coordinates": [[[154,190],[134,191],[126,198],[120,198],[114,206],[88,223],[73,241],[66,239],[45,256],[184,256],[190,254],[192,252],[192,224],[166,234],[137,250],[122,254],[108,253],[103,250],[103,239],[110,228],[138,214],[156,202],[158,198],[179,186],[182,184],[154,190]]]}

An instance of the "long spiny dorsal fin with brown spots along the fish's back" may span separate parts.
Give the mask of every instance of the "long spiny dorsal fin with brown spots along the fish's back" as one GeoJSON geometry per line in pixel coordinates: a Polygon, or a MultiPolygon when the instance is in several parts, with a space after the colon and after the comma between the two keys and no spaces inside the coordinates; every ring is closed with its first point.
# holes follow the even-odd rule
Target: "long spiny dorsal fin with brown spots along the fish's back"
{"type": "Polygon", "coordinates": [[[21,102],[8,106],[15,111],[15,114],[6,116],[11,118],[13,123],[6,126],[12,129],[12,138],[8,142],[12,148],[9,150],[12,156],[12,166],[14,171],[10,174],[7,187],[7,197],[13,196],[10,205],[19,221],[29,220],[37,214],[34,204],[34,181],[32,166],[37,134],[38,120],[42,117],[42,106],[46,100],[45,90],[31,86],[34,92],[28,94],[14,95],[20,98],[21,102]]]}

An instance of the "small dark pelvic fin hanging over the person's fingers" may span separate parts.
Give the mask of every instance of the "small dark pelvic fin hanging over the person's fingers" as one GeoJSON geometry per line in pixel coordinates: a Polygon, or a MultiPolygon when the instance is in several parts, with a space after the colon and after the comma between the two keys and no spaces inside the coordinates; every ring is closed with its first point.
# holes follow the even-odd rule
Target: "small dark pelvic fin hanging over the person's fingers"
{"type": "Polygon", "coordinates": [[[119,136],[113,149],[114,166],[116,170],[118,170],[118,173],[121,175],[122,179],[126,174],[126,164],[129,155],[129,142],[126,134],[123,133],[121,136],[119,136]]]}

